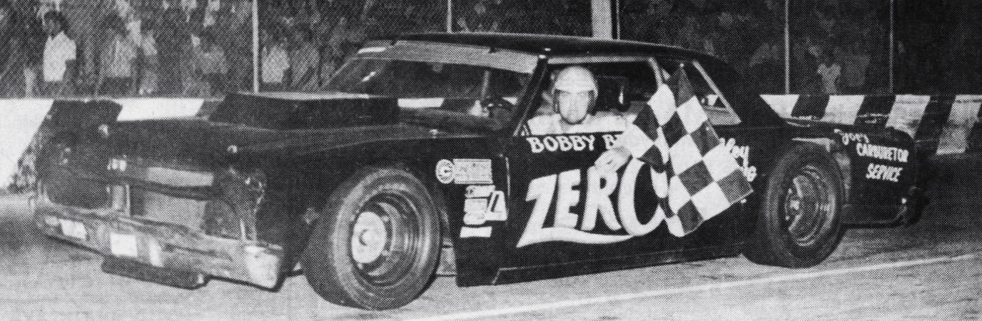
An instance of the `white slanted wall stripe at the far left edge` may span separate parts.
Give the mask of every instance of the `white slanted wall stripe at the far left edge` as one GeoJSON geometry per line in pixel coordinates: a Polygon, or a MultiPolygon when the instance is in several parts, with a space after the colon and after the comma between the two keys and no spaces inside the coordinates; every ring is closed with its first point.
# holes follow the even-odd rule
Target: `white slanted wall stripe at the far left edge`
{"type": "Polygon", "coordinates": [[[52,102],[52,99],[0,100],[0,188],[10,185],[18,159],[44,122],[52,102]]]}

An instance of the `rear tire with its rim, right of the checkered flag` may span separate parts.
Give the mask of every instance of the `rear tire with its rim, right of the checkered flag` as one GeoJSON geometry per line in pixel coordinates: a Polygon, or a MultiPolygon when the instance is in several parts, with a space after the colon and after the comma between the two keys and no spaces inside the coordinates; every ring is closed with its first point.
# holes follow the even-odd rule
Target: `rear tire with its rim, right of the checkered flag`
{"type": "Polygon", "coordinates": [[[839,166],[821,146],[795,145],[767,182],[756,228],[743,254],[754,263],[815,266],[842,241],[845,187],[839,166]]]}

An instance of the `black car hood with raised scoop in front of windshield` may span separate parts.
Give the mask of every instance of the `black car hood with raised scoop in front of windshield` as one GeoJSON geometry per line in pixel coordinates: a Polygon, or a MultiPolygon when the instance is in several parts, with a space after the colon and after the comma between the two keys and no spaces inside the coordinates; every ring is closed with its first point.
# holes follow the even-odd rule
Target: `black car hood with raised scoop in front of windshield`
{"type": "MultiPolygon", "coordinates": [[[[348,93],[234,94],[207,118],[118,122],[102,130],[106,156],[224,166],[377,141],[480,136],[496,124],[466,114],[400,109],[395,98],[348,93]]],[[[95,147],[95,146],[93,146],[95,147]]]]}

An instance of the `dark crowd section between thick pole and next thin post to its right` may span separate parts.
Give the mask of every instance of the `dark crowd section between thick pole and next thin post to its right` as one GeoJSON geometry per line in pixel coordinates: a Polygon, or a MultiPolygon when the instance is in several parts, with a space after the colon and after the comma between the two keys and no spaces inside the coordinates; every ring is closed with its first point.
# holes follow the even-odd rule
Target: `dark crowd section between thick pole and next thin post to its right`
{"type": "Polygon", "coordinates": [[[704,51],[784,90],[783,0],[626,0],[621,36],[704,51]]]}

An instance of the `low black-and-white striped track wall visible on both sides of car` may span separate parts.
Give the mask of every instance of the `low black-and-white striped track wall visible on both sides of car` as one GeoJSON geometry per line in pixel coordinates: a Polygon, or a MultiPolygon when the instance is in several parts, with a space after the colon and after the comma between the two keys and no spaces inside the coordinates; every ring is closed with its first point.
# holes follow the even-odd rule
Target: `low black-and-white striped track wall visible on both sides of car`
{"type": "MultiPolygon", "coordinates": [[[[762,95],[779,115],[844,125],[895,128],[937,138],[937,154],[982,151],[976,129],[982,95],[762,95]]],[[[194,98],[0,100],[0,187],[34,184],[34,159],[53,134],[112,121],[201,115],[219,101],[194,98]]]]}

